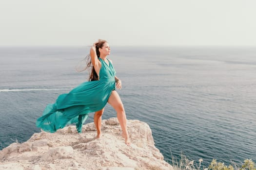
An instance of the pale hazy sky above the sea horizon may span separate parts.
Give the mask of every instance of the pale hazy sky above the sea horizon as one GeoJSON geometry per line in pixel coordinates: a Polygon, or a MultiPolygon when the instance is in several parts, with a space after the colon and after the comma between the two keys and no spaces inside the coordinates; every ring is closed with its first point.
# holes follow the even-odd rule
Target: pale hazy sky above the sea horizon
{"type": "Polygon", "coordinates": [[[0,0],[0,46],[256,46],[256,0],[0,0]]]}

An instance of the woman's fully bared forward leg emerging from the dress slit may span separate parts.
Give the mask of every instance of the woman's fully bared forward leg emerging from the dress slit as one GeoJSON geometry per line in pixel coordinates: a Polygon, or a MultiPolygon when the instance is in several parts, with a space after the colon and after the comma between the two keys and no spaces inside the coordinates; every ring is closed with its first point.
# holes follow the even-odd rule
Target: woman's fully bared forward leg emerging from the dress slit
{"type": "Polygon", "coordinates": [[[122,128],[122,136],[124,137],[125,144],[129,146],[131,144],[131,141],[129,139],[129,134],[126,127],[126,115],[125,115],[123,103],[116,90],[112,91],[108,99],[108,103],[117,111],[118,121],[122,128]]]}

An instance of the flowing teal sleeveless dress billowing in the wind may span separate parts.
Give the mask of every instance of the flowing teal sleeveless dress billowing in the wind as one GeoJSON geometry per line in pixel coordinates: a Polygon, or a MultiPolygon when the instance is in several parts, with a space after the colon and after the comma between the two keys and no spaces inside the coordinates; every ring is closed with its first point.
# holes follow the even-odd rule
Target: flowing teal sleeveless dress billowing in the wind
{"type": "Polygon", "coordinates": [[[104,108],[113,90],[116,90],[116,71],[109,61],[106,64],[101,58],[99,80],[84,82],[67,94],[61,94],[53,104],[48,104],[43,115],[37,119],[37,127],[46,132],[54,133],[67,124],[76,123],[77,130],[81,127],[88,114],[104,108]]]}

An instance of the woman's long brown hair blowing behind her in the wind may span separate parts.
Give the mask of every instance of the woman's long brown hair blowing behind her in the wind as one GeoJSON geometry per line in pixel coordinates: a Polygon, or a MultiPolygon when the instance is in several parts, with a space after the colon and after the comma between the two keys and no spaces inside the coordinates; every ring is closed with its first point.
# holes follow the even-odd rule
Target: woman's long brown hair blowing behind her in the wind
{"type": "MultiPolygon", "coordinates": [[[[99,58],[100,56],[100,52],[99,52],[99,48],[101,49],[104,45],[104,43],[106,43],[107,41],[106,40],[102,40],[102,39],[98,39],[98,43],[96,43],[96,54],[97,54],[97,57],[99,58]]],[[[88,81],[96,81],[98,80],[98,75],[94,69],[94,66],[92,64],[92,59],[91,59],[91,55],[88,54],[79,64],[82,65],[83,62],[86,62],[86,67],[85,68],[82,68],[81,70],[78,69],[78,67],[76,68],[77,71],[81,72],[81,71],[84,71],[86,70],[87,68],[91,68],[89,69],[89,79],[88,81]],[[91,70],[91,71],[90,71],[91,70]]]]}

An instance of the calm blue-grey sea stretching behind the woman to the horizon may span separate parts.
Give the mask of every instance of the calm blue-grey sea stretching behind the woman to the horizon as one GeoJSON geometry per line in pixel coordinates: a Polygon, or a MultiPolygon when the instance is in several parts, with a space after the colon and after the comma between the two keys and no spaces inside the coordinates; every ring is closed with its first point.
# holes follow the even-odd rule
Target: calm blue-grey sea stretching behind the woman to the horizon
{"type": "MultiPolygon", "coordinates": [[[[61,93],[87,81],[88,47],[0,48],[0,149],[40,130],[61,93]]],[[[256,48],[112,47],[127,118],[147,122],[165,159],[256,161],[256,48]]],[[[116,117],[106,106],[103,119],[116,117]]],[[[86,123],[93,121],[93,114],[86,123]]]]}

